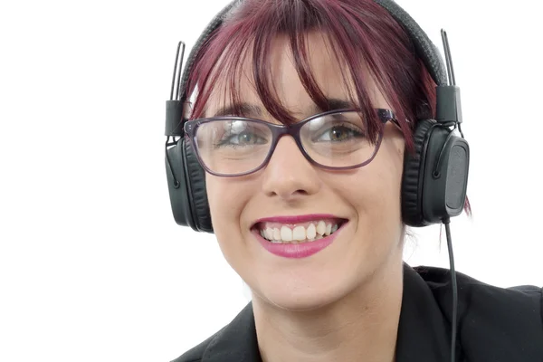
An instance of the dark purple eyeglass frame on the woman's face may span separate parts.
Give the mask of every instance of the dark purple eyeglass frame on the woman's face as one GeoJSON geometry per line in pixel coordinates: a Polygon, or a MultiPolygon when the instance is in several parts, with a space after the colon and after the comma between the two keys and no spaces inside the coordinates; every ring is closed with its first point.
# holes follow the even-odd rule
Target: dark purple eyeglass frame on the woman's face
{"type": "Polygon", "coordinates": [[[211,175],[214,175],[214,176],[239,177],[239,176],[251,175],[251,174],[261,170],[263,167],[266,167],[268,165],[268,163],[270,162],[271,156],[273,155],[273,152],[275,151],[275,148],[277,147],[277,144],[279,143],[279,139],[282,136],[286,136],[286,135],[290,135],[292,138],[294,138],[294,140],[296,141],[296,144],[298,145],[298,148],[300,149],[301,154],[304,157],[306,157],[306,159],[308,161],[310,161],[310,163],[312,165],[315,165],[317,167],[321,167],[321,168],[324,168],[324,169],[329,169],[329,170],[349,170],[349,169],[354,169],[354,168],[358,168],[358,167],[364,167],[367,164],[369,164],[371,161],[373,161],[373,159],[376,157],[376,154],[379,151],[379,148],[381,147],[381,141],[383,140],[383,131],[385,129],[384,126],[385,126],[386,122],[390,120],[391,122],[394,122],[396,126],[398,126],[398,122],[395,119],[395,115],[394,115],[394,112],[392,110],[381,109],[381,108],[376,109],[376,112],[377,112],[377,115],[378,115],[379,119],[381,119],[381,121],[383,122],[383,127],[379,130],[379,135],[378,135],[378,139],[377,139],[377,142],[376,142],[376,148],[374,150],[373,155],[366,162],[363,162],[361,164],[354,165],[354,166],[330,167],[330,166],[319,164],[319,162],[317,162],[313,158],[311,158],[310,155],[308,155],[306,150],[303,148],[303,145],[301,144],[301,140],[300,140],[300,129],[306,123],[310,122],[312,119],[318,119],[320,117],[329,116],[330,114],[345,113],[345,112],[352,112],[352,111],[357,112],[359,110],[357,110],[357,109],[330,110],[328,112],[319,113],[319,114],[316,114],[314,116],[311,116],[308,119],[303,119],[300,122],[297,122],[297,123],[295,123],[295,124],[293,124],[291,126],[278,125],[278,124],[266,122],[265,120],[262,120],[262,119],[250,119],[250,118],[244,118],[244,117],[212,117],[212,118],[207,118],[207,119],[193,119],[193,120],[189,120],[189,121],[187,121],[185,123],[184,129],[185,129],[186,138],[189,138],[190,142],[192,143],[192,145],[193,145],[193,147],[195,149],[195,155],[196,155],[196,157],[198,159],[198,163],[200,164],[201,167],[203,167],[205,169],[205,171],[207,171],[208,173],[210,173],[211,175]],[[266,156],[266,158],[264,158],[264,160],[262,161],[262,164],[259,167],[253,168],[252,170],[247,171],[247,172],[243,172],[241,174],[219,174],[219,173],[216,173],[216,172],[210,170],[208,167],[205,166],[205,162],[200,157],[200,153],[198,151],[197,142],[196,142],[196,139],[195,139],[196,130],[198,129],[199,126],[201,126],[201,125],[203,125],[205,123],[213,122],[213,121],[216,121],[216,120],[225,120],[225,119],[248,120],[248,121],[252,121],[252,122],[257,122],[257,123],[260,123],[260,124],[263,124],[263,125],[267,126],[271,130],[271,147],[270,147],[270,151],[268,152],[268,155],[266,156]]]}

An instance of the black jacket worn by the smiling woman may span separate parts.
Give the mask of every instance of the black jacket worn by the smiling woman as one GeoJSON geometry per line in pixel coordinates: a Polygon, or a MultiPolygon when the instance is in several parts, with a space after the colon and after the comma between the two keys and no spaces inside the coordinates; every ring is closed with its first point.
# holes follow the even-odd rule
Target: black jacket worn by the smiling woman
{"type": "MultiPolygon", "coordinates": [[[[543,362],[543,290],[501,289],[457,272],[457,360],[543,362]]],[[[448,270],[404,267],[396,362],[450,361],[448,270]]],[[[173,362],[257,362],[252,303],[224,329],[173,362]]]]}

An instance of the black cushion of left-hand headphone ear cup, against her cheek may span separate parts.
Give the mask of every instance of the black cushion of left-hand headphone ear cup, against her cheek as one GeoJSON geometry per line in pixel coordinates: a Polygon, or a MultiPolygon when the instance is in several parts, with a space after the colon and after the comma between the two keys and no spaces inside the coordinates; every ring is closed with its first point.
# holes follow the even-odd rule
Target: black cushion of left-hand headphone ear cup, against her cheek
{"type": "Polygon", "coordinates": [[[198,157],[190,142],[185,142],[185,165],[188,194],[190,196],[191,209],[195,226],[200,232],[213,233],[207,191],[205,189],[205,170],[200,166],[198,157]]]}

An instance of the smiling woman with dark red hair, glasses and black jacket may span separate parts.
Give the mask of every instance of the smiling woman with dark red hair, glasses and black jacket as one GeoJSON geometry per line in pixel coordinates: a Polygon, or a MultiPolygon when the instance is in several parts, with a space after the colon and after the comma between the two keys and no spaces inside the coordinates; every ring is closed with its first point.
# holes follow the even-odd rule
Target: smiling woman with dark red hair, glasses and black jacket
{"type": "Polygon", "coordinates": [[[542,360],[541,289],[458,274],[456,325],[450,272],[402,261],[406,225],[429,224],[406,167],[443,111],[410,19],[384,0],[235,3],[190,58],[167,171],[177,222],[213,230],[252,303],[176,361],[542,360]]]}

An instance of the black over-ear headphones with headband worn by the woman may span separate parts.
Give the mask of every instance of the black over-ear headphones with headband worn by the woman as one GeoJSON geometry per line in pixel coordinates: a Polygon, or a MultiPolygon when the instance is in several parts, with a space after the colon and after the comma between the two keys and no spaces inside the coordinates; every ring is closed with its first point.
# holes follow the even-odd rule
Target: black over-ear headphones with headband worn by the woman
{"type": "MultiPolygon", "coordinates": [[[[403,26],[414,43],[417,55],[437,84],[436,119],[416,120],[414,153],[405,152],[402,218],[406,225],[414,227],[445,221],[448,223],[452,216],[462,214],[465,204],[470,147],[463,138],[460,89],[454,80],[447,36],[442,30],[447,61],[445,69],[440,52],[405,10],[393,0],[374,1],[403,26]],[[457,128],[461,137],[454,133],[457,128]]],[[[213,233],[213,224],[205,190],[205,170],[200,166],[195,150],[185,138],[183,130],[186,121],[186,86],[197,52],[209,35],[223,24],[225,16],[241,3],[242,0],[233,0],[208,24],[188,57],[182,79],[180,75],[185,45],[179,43],[177,47],[174,79],[166,110],[167,185],[176,223],[190,226],[196,232],[213,233]],[[179,61],[181,45],[183,52],[179,61]],[[179,138],[176,140],[176,137],[179,138]]]]}

